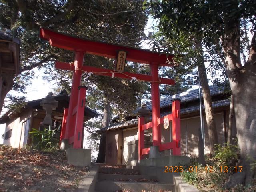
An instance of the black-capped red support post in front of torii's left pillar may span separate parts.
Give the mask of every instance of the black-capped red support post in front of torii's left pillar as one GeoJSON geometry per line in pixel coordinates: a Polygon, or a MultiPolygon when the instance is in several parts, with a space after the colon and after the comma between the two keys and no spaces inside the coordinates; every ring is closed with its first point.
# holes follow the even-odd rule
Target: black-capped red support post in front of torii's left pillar
{"type": "Polygon", "coordinates": [[[79,86],[78,87],[78,105],[76,111],[76,118],[75,118],[75,130],[74,130],[74,149],[82,148],[82,140],[84,138],[83,129],[84,129],[84,108],[85,108],[85,96],[86,96],[86,86],[79,86]]]}

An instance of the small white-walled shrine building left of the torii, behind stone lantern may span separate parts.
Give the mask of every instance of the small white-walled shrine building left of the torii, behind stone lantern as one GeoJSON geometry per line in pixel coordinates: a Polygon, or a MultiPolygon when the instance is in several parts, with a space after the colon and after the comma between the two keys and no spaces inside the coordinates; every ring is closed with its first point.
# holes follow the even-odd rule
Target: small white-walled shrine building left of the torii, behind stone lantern
{"type": "MultiPolygon", "coordinates": [[[[64,108],[67,108],[69,105],[70,97],[64,90],[60,94],[53,96],[53,98],[58,102],[58,106],[56,110],[52,111],[52,124],[54,128],[60,127],[56,135],[56,138],[60,140],[61,126],[59,125],[63,119],[64,108]]],[[[32,131],[32,128],[39,129],[40,123],[43,122],[46,116],[46,111],[40,105],[41,101],[42,99],[29,101],[19,112],[8,110],[0,117],[0,124],[6,123],[5,133],[3,135],[4,145],[14,148],[22,148],[26,145],[30,146],[32,139],[29,132],[32,131]]],[[[97,118],[98,113],[85,107],[84,122],[94,117],[97,118]]]]}

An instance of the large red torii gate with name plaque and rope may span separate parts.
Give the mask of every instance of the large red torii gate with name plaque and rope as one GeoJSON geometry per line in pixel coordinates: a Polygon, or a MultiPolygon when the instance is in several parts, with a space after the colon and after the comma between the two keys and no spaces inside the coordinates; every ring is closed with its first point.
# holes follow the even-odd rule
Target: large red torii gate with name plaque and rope
{"type": "MultiPolygon", "coordinates": [[[[143,125],[143,122],[140,121],[139,134],[140,132],[143,133],[145,129],[152,127],[153,146],[159,146],[160,150],[174,149],[174,154],[180,155],[180,146],[178,145],[180,140],[180,119],[178,115],[180,106],[179,101],[173,103],[174,106],[176,106],[176,118],[168,118],[169,116],[166,117],[169,120],[173,120],[173,142],[163,146],[161,144],[161,133],[159,128],[159,125],[163,123],[163,118],[160,118],[159,84],[174,85],[174,80],[160,78],[158,76],[158,67],[172,66],[171,64],[167,63],[167,60],[172,60],[173,55],[169,55],[167,57],[166,54],[163,53],[156,53],[138,48],[77,38],[46,28],[40,29],[40,38],[49,41],[51,46],[71,50],[76,54],[74,64],[58,61],[55,64],[55,68],[74,71],[69,107],[64,111],[61,139],[68,140],[69,144],[73,144],[73,148],[82,148],[83,118],[87,89],[85,86],[80,86],[82,73],[92,72],[94,74],[104,76],[112,76],[114,73],[114,76],[119,78],[132,79],[132,77],[134,77],[137,80],[151,82],[152,122],[148,123],[148,125],[143,125]],[[83,65],[84,54],[94,54],[108,58],[116,58],[116,52],[118,50],[124,50],[127,53],[126,60],[128,61],[149,64],[151,75],[119,72],[83,65]]],[[[140,134],[139,143],[142,142],[144,142],[144,135],[142,136],[142,134],[140,134]]],[[[139,154],[141,154],[140,158],[143,154],[147,154],[149,152],[149,149],[143,149],[141,147],[139,149],[139,154]]]]}

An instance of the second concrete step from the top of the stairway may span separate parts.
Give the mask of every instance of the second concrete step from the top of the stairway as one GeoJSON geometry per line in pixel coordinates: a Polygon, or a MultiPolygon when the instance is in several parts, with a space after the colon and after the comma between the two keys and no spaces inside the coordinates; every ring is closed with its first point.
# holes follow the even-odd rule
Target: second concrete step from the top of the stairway
{"type": "Polygon", "coordinates": [[[120,175],[140,175],[140,171],[136,169],[126,169],[126,168],[110,168],[110,167],[100,167],[99,173],[105,174],[120,174],[120,175]]]}

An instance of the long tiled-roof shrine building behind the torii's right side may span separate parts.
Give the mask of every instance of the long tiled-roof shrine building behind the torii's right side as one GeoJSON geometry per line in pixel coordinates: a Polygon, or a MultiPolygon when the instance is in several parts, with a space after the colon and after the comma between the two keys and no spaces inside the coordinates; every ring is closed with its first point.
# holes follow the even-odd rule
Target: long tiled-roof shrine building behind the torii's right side
{"type": "MultiPolygon", "coordinates": [[[[210,86],[212,96],[212,106],[214,109],[214,120],[216,123],[218,144],[227,142],[228,136],[228,115],[230,107],[230,96],[224,93],[221,86],[210,86]]],[[[191,90],[180,94],[172,95],[160,100],[161,117],[171,113],[172,100],[180,99],[180,130],[181,140],[180,148],[182,156],[198,156],[198,129],[200,128],[200,106],[199,91],[191,90]]],[[[146,108],[152,110],[152,105],[147,104],[146,108]]],[[[137,110],[139,110],[138,108],[137,110]]],[[[112,124],[97,131],[98,134],[106,132],[106,158],[105,163],[110,164],[132,164],[131,161],[138,160],[138,119],[136,111],[126,116],[126,121],[112,119],[112,124]],[[134,145],[134,146],[132,146],[134,145]]],[[[204,113],[204,106],[203,106],[204,113]]],[[[150,117],[151,118],[151,117],[150,117]]],[[[148,118],[148,121],[151,119],[148,118]]],[[[210,153],[210,144],[208,139],[208,130],[204,114],[204,136],[205,136],[205,154],[210,153]]],[[[161,142],[172,142],[172,124],[167,129],[160,125],[161,142]]],[[[152,146],[152,130],[148,130],[145,135],[146,147],[152,146]]],[[[170,156],[171,150],[161,152],[161,156],[170,156]]],[[[135,164],[133,164],[135,165],[135,164]]]]}

